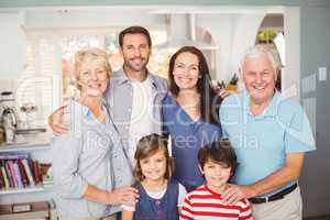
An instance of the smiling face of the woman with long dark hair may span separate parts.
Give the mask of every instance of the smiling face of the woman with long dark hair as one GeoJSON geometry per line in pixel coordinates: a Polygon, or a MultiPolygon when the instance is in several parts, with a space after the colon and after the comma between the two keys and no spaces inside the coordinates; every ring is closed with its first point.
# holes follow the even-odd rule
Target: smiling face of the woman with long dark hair
{"type": "Polygon", "coordinates": [[[179,90],[197,89],[199,76],[198,66],[198,56],[193,53],[184,52],[176,57],[173,68],[173,75],[174,81],[179,90]]]}

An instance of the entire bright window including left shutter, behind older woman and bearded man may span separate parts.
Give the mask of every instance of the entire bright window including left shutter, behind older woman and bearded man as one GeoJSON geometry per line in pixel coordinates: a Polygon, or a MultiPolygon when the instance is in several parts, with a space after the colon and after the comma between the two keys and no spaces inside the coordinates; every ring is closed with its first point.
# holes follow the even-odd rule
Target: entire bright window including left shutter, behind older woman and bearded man
{"type": "MultiPolygon", "coordinates": [[[[153,44],[165,42],[165,30],[150,30],[153,44]]],[[[32,125],[45,125],[47,117],[65,100],[78,96],[74,81],[73,58],[77,51],[85,47],[101,47],[109,52],[113,70],[122,65],[122,57],[117,46],[119,30],[45,30],[26,31],[28,65],[18,79],[18,108],[35,107],[30,113],[32,125]]],[[[148,69],[163,77],[167,76],[169,54],[153,48],[148,69]]],[[[25,108],[26,109],[26,108],[25,108]]],[[[33,108],[32,108],[33,109],[33,108]]],[[[25,120],[25,113],[20,118],[25,120]]]]}

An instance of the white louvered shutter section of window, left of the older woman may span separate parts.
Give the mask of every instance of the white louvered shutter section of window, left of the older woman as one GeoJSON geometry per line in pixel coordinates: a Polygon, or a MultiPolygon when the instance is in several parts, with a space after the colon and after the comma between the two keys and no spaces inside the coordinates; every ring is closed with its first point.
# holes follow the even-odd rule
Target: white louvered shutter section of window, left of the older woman
{"type": "Polygon", "coordinates": [[[59,106],[61,65],[56,38],[50,34],[29,33],[26,59],[25,70],[18,79],[15,96],[20,110],[30,107],[35,112],[30,112],[30,117],[22,111],[19,114],[23,121],[31,121],[32,127],[45,125],[47,116],[59,106]]]}

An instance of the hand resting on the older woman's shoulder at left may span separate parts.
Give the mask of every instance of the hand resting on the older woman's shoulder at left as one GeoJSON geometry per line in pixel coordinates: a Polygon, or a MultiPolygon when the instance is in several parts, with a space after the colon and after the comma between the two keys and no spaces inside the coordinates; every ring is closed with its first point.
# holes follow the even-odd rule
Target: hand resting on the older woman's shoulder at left
{"type": "Polygon", "coordinates": [[[69,130],[69,122],[65,121],[64,110],[67,106],[59,107],[54,113],[48,117],[48,124],[55,135],[62,135],[69,130]]]}

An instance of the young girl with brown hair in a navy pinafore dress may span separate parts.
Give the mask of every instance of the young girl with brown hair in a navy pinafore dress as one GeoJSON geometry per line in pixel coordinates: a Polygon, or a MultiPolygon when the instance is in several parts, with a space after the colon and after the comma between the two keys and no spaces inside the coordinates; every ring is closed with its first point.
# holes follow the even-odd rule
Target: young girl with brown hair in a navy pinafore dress
{"type": "Polygon", "coordinates": [[[187,194],[183,185],[172,179],[173,163],[167,141],[158,134],[142,138],[134,155],[134,169],[139,190],[135,207],[122,206],[122,220],[178,219],[178,208],[187,194]]]}

